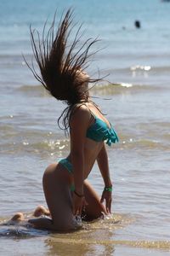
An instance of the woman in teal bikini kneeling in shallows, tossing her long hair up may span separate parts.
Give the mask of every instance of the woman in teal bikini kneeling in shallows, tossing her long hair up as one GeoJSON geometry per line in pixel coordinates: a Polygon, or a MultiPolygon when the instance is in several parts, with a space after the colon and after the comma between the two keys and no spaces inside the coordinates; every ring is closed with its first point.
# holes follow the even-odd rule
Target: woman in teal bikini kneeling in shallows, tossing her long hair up
{"type": "Polygon", "coordinates": [[[111,145],[118,138],[88,93],[88,84],[99,81],[90,79],[84,72],[92,55],[88,51],[96,40],[88,39],[78,48],[79,27],[73,42],[68,44],[71,22],[69,9],[60,20],[55,35],[54,22],[46,38],[44,26],[42,39],[38,34],[38,44],[31,31],[31,45],[41,76],[33,65],[27,64],[45,89],[68,106],[60,115],[58,124],[62,119],[65,132],[70,134],[71,152],[65,159],[48,166],[42,178],[51,218],[29,220],[36,228],[48,230],[74,230],[77,228],[75,216],[83,215],[89,221],[111,212],[112,184],[104,141],[111,145]],[[95,160],[105,183],[101,200],[86,180],[95,160]]]}

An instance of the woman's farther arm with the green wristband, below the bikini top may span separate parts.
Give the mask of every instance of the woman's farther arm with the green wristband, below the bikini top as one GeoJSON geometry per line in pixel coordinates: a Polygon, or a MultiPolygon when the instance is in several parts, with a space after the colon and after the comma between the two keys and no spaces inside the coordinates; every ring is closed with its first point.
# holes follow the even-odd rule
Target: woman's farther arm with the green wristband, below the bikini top
{"type": "Polygon", "coordinates": [[[99,151],[97,162],[99,166],[99,171],[101,172],[101,175],[105,183],[105,189],[103,190],[103,193],[101,196],[101,202],[105,200],[106,212],[111,213],[112,183],[111,183],[111,177],[110,177],[110,171],[109,171],[108,156],[105,149],[105,143],[101,148],[101,150],[99,151]]]}

